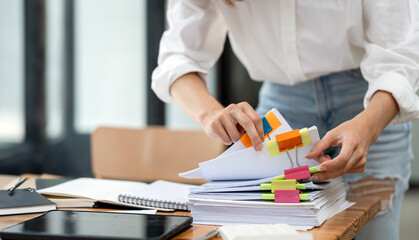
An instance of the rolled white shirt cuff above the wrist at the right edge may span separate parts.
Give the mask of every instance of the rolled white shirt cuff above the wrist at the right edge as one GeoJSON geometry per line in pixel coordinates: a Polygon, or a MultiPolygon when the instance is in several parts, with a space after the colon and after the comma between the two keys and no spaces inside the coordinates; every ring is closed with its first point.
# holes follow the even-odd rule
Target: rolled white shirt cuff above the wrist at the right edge
{"type": "Polygon", "coordinates": [[[364,107],[368,106],[374,93],[379,90],[391,93],[399,105],[399,113],[390,124],[419,119],[419,97],[414,92],[411,83],[403,75],[389,72],[369,81],[364,107]]]}

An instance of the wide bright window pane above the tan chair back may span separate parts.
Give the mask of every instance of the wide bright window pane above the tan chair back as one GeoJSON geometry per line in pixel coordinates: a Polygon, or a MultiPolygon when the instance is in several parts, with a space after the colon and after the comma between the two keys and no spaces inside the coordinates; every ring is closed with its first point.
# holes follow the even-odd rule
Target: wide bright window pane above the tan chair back
{"type": "Polygon", "coordinates": [[[75,129],[146,123],[146,1],[75,2],[75,129]]]}

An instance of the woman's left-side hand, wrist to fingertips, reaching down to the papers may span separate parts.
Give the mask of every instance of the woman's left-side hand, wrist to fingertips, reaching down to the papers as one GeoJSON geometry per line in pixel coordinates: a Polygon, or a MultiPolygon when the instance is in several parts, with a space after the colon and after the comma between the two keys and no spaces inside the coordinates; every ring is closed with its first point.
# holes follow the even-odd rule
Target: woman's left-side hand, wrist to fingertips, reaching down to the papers
{"type": "Polygon", "coordinates": [[[247,102],[205,112],[199,122],[209,137],[218,138],[226,145],[238,141],[246,131],[255,150],[262,151],[262,119],[247,102]]]}

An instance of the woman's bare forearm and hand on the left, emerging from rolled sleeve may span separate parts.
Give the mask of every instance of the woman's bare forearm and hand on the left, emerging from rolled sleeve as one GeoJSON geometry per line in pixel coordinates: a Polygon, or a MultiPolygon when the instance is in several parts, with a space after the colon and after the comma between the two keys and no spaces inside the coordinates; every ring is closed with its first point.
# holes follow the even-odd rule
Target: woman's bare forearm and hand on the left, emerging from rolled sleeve
{"type": "Polygon", "coordinates": [[[196,73],[178,78],[171,85],[170,93],[182,109],[204,128],[208,136],[229,145],[238,141],[246,131],[256,151],[262,150],[262,119],[248,103],[223,107],[208,92],[196,73]]]}

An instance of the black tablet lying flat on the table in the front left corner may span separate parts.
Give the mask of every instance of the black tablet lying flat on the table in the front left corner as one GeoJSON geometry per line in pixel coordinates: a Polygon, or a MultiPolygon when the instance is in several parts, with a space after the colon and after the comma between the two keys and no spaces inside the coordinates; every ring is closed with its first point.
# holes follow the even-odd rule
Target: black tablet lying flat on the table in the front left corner
{"type": "Polygon", "coordinates": [[[8,239],[169,239],[190,227],[192,218],[73,210],[49,211],[3,229],[8,239]]]}

